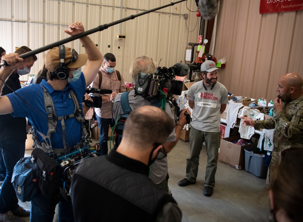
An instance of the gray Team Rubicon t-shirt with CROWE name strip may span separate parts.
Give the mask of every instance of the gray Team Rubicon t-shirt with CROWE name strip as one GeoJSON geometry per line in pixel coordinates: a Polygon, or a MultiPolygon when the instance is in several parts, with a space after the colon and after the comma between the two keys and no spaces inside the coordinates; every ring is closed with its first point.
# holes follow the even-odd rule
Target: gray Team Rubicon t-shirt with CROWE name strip
{"type": "Polygon", "coordinates": [[[217,133],[220,132],[221,104],[228,103],[227,89],[220,82],[213,85],[213,88],[204,86],[203,81],[196,82],[187,94],[187,99],[195,102],[191,126],[197,130],[217,133]]]}

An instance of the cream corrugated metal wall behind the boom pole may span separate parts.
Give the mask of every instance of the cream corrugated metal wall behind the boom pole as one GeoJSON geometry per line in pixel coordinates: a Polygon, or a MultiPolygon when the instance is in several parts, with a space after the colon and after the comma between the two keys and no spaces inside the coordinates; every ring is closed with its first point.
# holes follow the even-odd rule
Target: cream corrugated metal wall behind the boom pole
{"type": "MultiPolygon", "coordinates": [[[[122,18],[170,2],[123,0],[122,18]]],[[[68,35],[63,30],[73,21],[82,21],[85,30],[89,30],[121,18],[121,0],[0,0],[0,5],[0,46],[7,52],[14,52],[15,47],[22,45],[37,49],[64,39],[68,35]]],[[[188,1],[187,6],[192,11],[197,8],[194,1],[188,1]]],[[[185,13],[189,14],[187,26],[192,30],[196,24],[196,13],[188,11],[186,2],[182,2],[122,23],[121,34],[126,35],[125,40],[117,39],[119,24],[90,37],[98,44],[102,54],[110,52],[116,56],[116,69],[129,82],[129,67],[137,56],[148,55],[156,62],[162,58],[159,65],[168,67],[180,60],[185,61],[186,46],[188,42],[197,42],[199,33],[199,22],[193,32],[187,31],[185,13]]],[[[79,40],[65,46],[85,53],[79,40]]],[[[31,73],[38,72],[44,54],[37,55],[38,61],[31,73]]],[[[27,78],[22,76],[20,79],[27,78]]]]}

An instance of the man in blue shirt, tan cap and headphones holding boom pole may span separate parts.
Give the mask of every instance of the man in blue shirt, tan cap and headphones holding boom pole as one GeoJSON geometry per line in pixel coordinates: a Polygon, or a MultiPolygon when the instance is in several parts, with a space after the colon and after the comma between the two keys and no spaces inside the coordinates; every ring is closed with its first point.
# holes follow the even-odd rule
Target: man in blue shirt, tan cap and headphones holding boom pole
{"type": "MultiPolygon", "coordinates": [[[[64,32],[71,36],[84,32],[84,27],[81,22],[70,24],[69,27],[71,31],[65,30],[64,32]]],[[[66,117],[75,114],[75,105],[77,105],[77,103],[78,105],[82,103],[82,95],[85,94],[85,88],[95,78],[103,59],[99,49],[88,36],[80,38],[80,42],[88,54],[78,55],[75,50],[71,50],[67,47],[64,49],[64,46],[60,46],[60,48],[55,47],[49,50],[45,56],[45,68],[48,70],[48,81],[42,80],[41,84],[21,88],[14,93],[1,96],[0,114],[12,113],[13,116],[28,117],[28,120],[35,130],[46,135],[49,127],[48,115],[45,111],[45,93],[43,92],[42,86],[47,90],[53,100],[53,108],[56,109],[57,117],[66,117]],[[59,57],[59,53],[64,55],[62,50],[65,50],[64,60],[60,59],[61,56],[59,57]],[[87,65],[81,72],[81,67],[85,65],[86,62],[87,65]],[[64,70],[59,72],[58,69],[64,70]],[[58,70],[58,72],[55,72],[55,70],[58,70]],[[63,73],[65,78],[60,78],[63,73]],[[75,102],[73,101],[73,96],[71,96],[72,91],[75,92],[77,96],[77,101],[75,102]],[[33,95],[35,95],[34,100],[32,99],[33,95]],[[30,104],[23,101],[28,101],[30,104]],[[40,117],[37,112],[44,115],[44,118],[40,117]]],[[[16,53],[2,56],[1,60],[5,60],[9,65],[0,69],[0,78],[2,80],[6,80],[8,76],[11,75],[12,71],[22,65],[23,62],[23,59],[16,53]]],[[[3,85],[3,81],[0,80],[1,89],[3,85]]],[[[61,123],[61,121],[57,121],[57,127],[63,130],[63,124],[61,123]]],[[[40,143],[43,142],[43,144],[45,144],[51,142],[53,147],[52,150],[62,151],[64,151],[64,144],[67,147],[77,145],[82,137],[81,122],[72,116],[67,118],[64,123],[65,134],[62,134],[60,130],[56,130],[55,133],[50,135],[49,141],[45,140],[44,142],[42,136],[37,135],[40,143]]],[[[71,203],[60,201],[59,199],[46,198],[42,195],[42,192],[38,192],[31,201],[30,220],[32,222],[52,222],[55,214],[55,207],[59,202],[59,220],[74,221],[71,203]]]]}

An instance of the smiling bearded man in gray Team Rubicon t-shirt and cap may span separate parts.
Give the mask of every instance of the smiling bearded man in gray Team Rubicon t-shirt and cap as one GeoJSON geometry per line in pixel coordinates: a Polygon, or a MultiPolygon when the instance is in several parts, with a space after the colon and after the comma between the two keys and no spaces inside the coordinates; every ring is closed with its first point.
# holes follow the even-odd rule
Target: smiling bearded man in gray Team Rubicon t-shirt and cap
{"type": "Polygon", "coordinates": [[[228,103],[227,89],[217,82],[218,73],[215,62],[207,60],[201,65],[203,80],[189,89],[188,105],[193,109],[189,133],[190,156],[186,160],[186,177],[179,186],[195,184],[198,175],[199,155],[205,142],[207,165],[204,182],[204,195],[212,195],[215,187],[215,173],[218,165],[220,146],[220,114],[228,103]]]}

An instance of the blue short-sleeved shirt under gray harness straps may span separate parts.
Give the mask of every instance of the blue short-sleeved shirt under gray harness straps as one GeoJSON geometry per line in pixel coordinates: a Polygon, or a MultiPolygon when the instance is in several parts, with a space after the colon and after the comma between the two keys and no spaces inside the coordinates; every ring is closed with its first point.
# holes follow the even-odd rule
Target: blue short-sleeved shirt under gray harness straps
{"type": "MultiPolygon", "coordinates": [[[[46,135],[48,131],[48,116],[45,110],[43,89],[40,85],[42,85],[52,97],[56,116],[61,117],[73,114],[75,110],[74,102],[69,93],[70,88],[74,89],[80,107],[82,108],[82,96],[85,94],[85,78],[81,72],[79,80],[68,83],[63,91],[54,90],[48,82],[43,80],[40,84],[24,87],[7,95],[14,109],[12,115],[14,117],[27,117],[36,130],[46,135]],[[17,94],[27,101],[30,106],[23,102],[17,94]],[[43,117],[41,115],[43,115],[43,117]]],[[[76,118],[72,117],[64,120],[64,123],[66,145],[68,147],[75,146],[82,136],[81,122],[78,122],[76,118]]],[[[57,127],[56,132],[51,135],[52,148],[63,149],[61,121],[57,121],[57,127]]],[[[44,142],[43,138],[38,133],[36,134],[38,140],[44,142]]]]}

